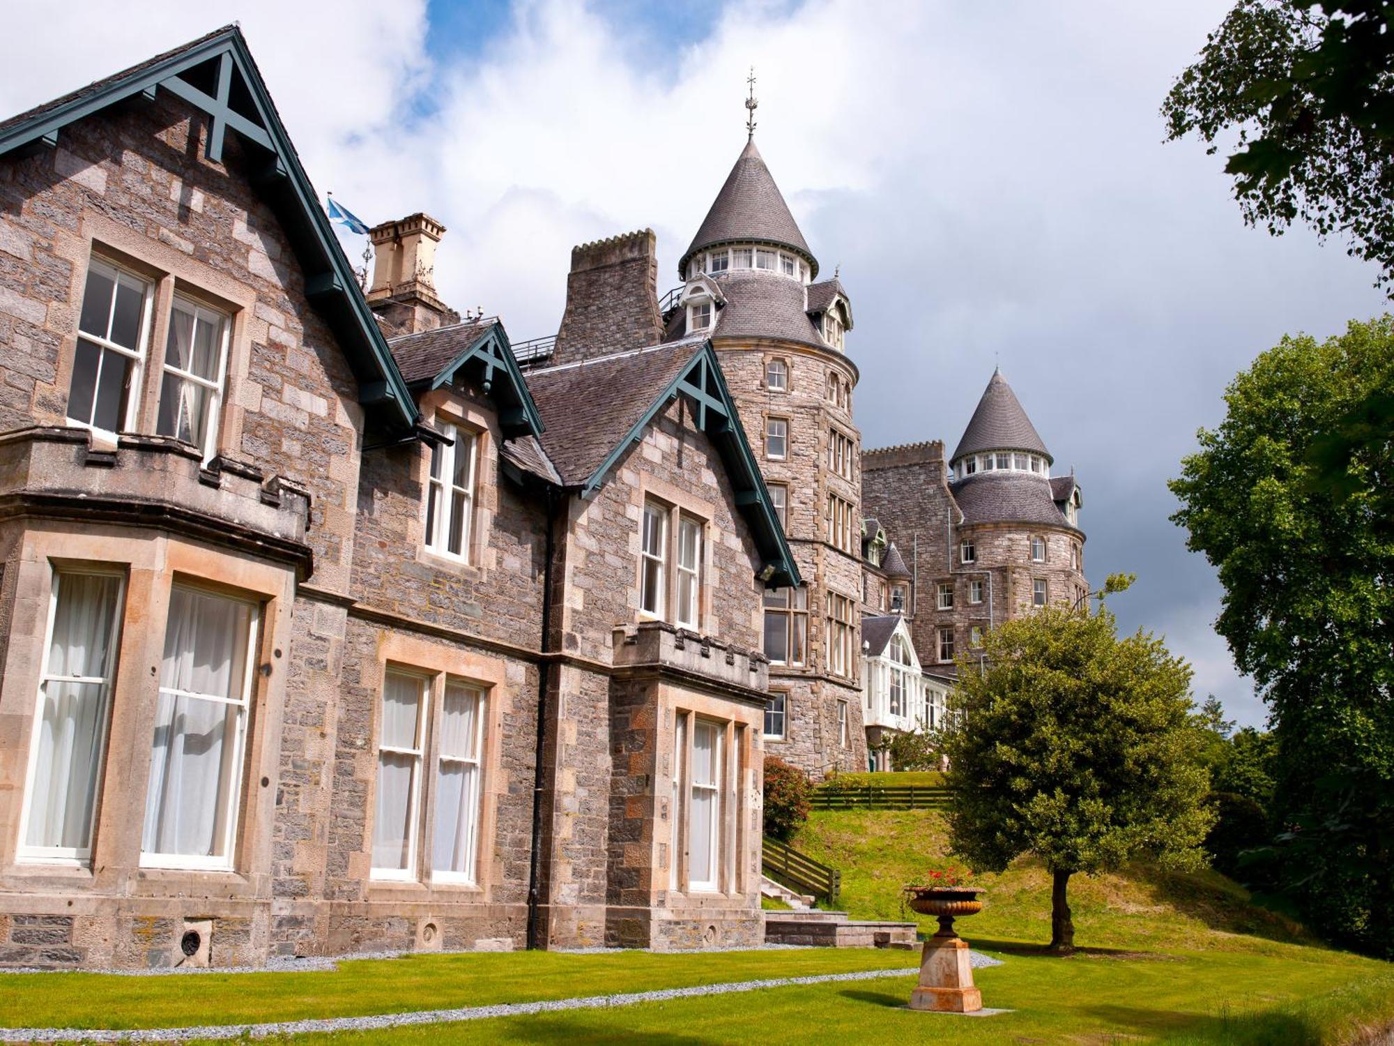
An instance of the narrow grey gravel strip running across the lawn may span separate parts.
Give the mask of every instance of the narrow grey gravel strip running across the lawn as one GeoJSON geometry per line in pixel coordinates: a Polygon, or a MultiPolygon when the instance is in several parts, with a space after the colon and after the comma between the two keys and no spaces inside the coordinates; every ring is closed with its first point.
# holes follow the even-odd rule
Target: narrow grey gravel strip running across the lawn
{"type": "MultiPolygon", "coordinates": [[[[987,957],[984,955],[983,958],[987,957]]],[[[991,962],[995,964],[997,961],[991,960],[991,962]]],[[[764,987],[905,978],[916,972],[919,972],[919,967],[905,967],[901,969],[873,969],[853,973],[818,973],[799,978],[737,980],[725,985],[668,987],[655,992],[622,992],[608,996],[581,996],[577,999],[552,999],[534,1003],[500,1003],[496,1006],[467,1006],[454,1010],[418,1010],[407,1014],[332,1017],[305,1021],[269,1021],[266,1024],[222,1024],[192,1028],[146,1028],[121,1031],[86,1028],[0,1028],[0,1042],[181,1042],[184,1039],[238,1039],[244,1036],[259,1039],[268,1035],[378,1031],[382,1028],[404,1028],[421,1024],[482,1021],[489,1017],[523,1017],[527,1014],[545,1014],[565,1010],[599,1010],[612,1006],[634,1006],[637,1003],[657,1003],[669,999],[693,999],[697,996],[718,996],[733,992],[758,992],[764,987]]]]}

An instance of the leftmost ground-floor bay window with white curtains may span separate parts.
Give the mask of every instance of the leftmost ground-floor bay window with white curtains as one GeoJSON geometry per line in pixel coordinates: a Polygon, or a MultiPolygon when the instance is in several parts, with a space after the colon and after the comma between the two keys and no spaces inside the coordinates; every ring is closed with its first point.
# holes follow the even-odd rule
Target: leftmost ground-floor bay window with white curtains
{"type": "Polygon", "coordinates": [[[84,863],[92,852],[123,586],[113,573],[53,575],[21,861],[84,863]]]}

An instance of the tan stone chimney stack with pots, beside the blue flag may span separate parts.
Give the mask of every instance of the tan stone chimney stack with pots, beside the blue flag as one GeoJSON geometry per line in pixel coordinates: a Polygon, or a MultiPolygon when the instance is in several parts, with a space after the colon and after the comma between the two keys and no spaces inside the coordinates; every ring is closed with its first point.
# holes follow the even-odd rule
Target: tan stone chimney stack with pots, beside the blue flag
{"type": "Polygon", "coordinates": [[[368,305],[389,338],[460,322],[435,293],[435,247],[443,234],[445,226],[420,211],[368,230],[374,252],[368,305]]]}

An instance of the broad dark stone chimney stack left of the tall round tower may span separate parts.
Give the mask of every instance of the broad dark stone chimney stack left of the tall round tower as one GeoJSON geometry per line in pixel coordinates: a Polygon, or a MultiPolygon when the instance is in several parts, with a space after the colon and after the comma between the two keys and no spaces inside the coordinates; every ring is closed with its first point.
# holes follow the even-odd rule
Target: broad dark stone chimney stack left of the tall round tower
{"type": "Polygon", "coordinates": [[[566,312],[552,363],[658,344],[658,237],[652,229],[623,233],[572,248],[566,312]]]}

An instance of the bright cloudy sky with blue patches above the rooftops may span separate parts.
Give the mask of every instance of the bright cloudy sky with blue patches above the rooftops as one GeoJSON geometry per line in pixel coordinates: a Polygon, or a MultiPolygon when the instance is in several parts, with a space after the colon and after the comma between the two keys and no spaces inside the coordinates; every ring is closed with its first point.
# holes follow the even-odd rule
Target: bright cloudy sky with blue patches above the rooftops
{"type": "Polygon", "coordinates": [[[1122,623],[1260,722],[1165,480],[1256,353],[1386,303],[1342,244],[1246,229],[1221,156],[1163,144],[1158,105],[1227,7],[70,0],[7,13],[25,47],[0,110],[240,21],[316,187],[369,223],[439,218],[443,297],[521,340],[555,332],[576,243],[650,226],[677,282],[754,66],[760,149],[853,296],[864,444],[952,448],[999,361],[1080,477],[1092,580],[1138,575],[1122,623]]]}

